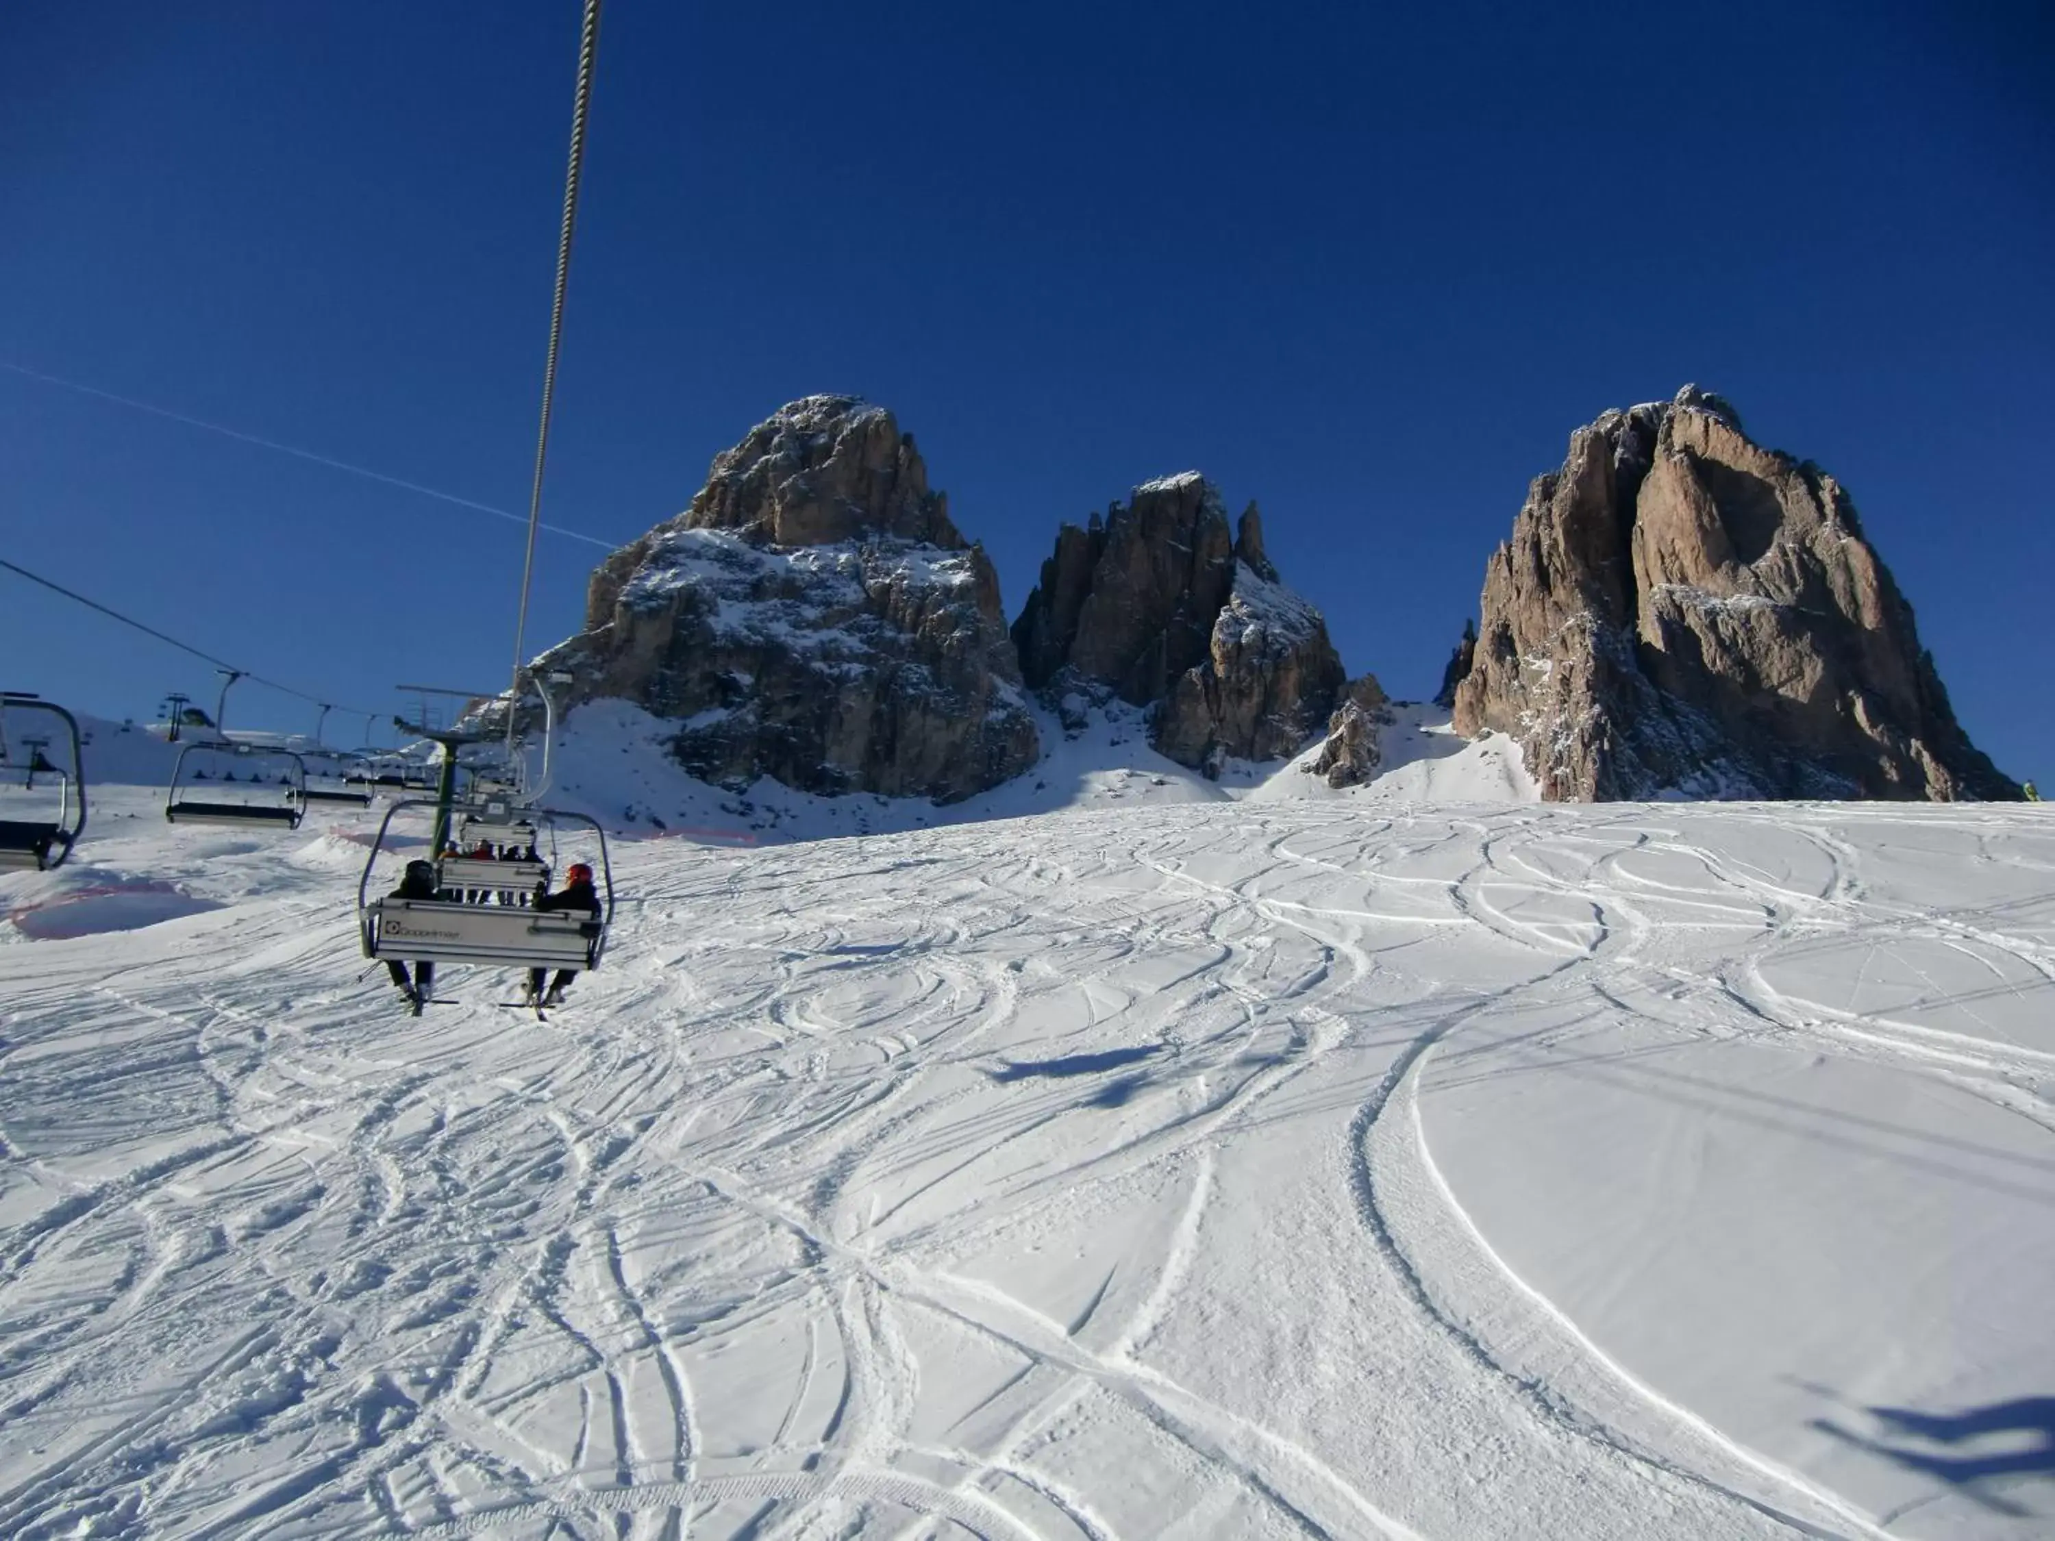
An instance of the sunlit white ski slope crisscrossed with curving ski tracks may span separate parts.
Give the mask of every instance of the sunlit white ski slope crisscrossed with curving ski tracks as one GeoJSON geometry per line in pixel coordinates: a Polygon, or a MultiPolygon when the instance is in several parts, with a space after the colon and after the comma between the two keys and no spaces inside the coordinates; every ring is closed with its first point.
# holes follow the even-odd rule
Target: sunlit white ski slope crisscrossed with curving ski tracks
{"type": "Polygon", "coordinates": [[[362,830],[0,881],[0,1535],[2055,1533],[2041,810],[625,840],[547,1025],[362,830]]]}

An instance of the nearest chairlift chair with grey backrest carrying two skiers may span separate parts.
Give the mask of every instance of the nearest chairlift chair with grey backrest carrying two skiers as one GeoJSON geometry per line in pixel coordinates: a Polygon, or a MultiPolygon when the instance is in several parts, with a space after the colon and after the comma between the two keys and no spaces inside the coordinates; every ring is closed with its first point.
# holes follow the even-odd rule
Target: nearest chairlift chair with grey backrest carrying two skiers
{"type": "Polygon", "coordinates": [[[358,929],[364,955],[376,962],[479,964],[487,968],[575,968],[594,970],[606,951],[606,929],[614,918],[614,871],[606,851],[606,830],[584,814],[549,807],[514,810],[501,801],[456,803],[454,828],[473,842],[522,847],[547,834],[555,847],[557,830],[575,824],[592,832],[600,847],[600,916],[594,920],[577,910],[532,910],[518,904],[464,904],[448,894],[466,890],[481,894],[534,892],[549,879],[543,861],[493,861],[485,857],[444,855],[436,861],[438,894],[444,898],[413,900],[372,896],[372,875],[378,857],[388,853],[393,818],[405,810],[427,810],[436,803],[409,797],[393,803],[378,824],[378,838],[364,861],[358,879],[358,929]],[[495,832],[501,838],[495,838],[495,832]]]}

